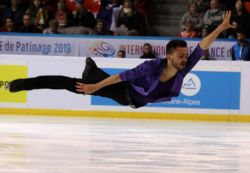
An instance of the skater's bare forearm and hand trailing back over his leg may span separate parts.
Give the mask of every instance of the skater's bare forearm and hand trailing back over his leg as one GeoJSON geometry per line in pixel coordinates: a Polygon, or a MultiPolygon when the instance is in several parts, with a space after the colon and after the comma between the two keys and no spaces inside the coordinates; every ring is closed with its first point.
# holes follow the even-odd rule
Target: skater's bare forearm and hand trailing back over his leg
{"type": "Polygon", "coordinates": [[[118,74],[112,75],[96,84],[84,84],[81,82],[77,82],[76,83],[76,91],[78,92],[82,92],[85,94],[92,94],[96,91],[98,91],[99,89],[108,86],[108,85],[112,85],[118,82],[121,82],[121,78],[118,74]]]}

